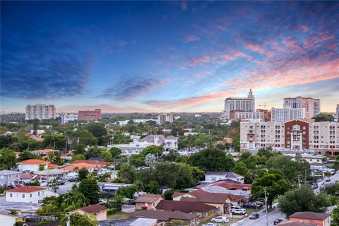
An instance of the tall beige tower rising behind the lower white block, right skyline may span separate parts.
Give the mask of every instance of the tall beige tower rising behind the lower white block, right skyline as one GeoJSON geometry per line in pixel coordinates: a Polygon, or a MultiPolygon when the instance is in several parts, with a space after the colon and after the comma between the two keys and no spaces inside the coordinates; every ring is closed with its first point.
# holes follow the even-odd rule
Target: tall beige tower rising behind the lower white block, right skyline
{"type": "Polygon", "coordinates": [[[320,113],[320,100],[312,97],[284,98],[284,108],[304,108],[305,118],[311,119],[320,113]]]}

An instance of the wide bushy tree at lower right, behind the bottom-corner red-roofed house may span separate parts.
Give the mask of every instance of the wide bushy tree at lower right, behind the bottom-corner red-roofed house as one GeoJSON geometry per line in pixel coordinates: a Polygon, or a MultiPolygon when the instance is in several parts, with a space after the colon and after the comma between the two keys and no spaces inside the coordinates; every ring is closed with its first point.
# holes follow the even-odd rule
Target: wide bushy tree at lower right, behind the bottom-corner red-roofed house
{"type": "Polygon", "coordinates": [[[287,217],[295,212],[325,212],[330,204],[326,194],[316,195],[308,186],[300,186],[297,189],[287,191],[279,198],[280,210],[287,217]]]}

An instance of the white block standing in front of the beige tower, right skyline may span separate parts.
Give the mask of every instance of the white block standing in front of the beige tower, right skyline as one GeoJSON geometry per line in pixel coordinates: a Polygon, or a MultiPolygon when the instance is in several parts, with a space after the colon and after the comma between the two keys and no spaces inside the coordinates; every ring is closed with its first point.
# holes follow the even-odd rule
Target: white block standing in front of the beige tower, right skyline
{"type": "Polygon", "coordinates": [[[295,119],[305,119],[304,108],[272,108],[272,121],[292,121],[295,119]]]}

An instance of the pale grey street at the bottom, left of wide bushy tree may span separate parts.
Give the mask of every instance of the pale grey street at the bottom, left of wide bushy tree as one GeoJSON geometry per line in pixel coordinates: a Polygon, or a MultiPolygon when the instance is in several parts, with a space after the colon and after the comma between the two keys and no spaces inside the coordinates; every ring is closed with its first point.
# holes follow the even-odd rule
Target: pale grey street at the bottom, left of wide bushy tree
{"type": "MultiPolygon", "coordinates": [[[[275,207],[275,210],[268,213],[268,226],[273,226],[273,221],[277,218],[280,218],[282,220],[286,220],[285,215],[280,212],[280,210],[277,208],[276,204],[273,205],[275,207]]],[[[248,217],[244,218],[242,220],[239,220],[238,222],[232,224],[232,226],[265,226],[266,225],[266,212],[265,210],[258,211],[260,217],[256,220],[251,220],[248,217]]]]}

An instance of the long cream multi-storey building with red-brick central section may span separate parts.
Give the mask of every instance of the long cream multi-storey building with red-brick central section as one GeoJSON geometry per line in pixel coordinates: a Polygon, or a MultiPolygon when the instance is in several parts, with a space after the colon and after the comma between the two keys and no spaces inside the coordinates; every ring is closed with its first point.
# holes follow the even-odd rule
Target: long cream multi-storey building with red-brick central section
{"type": "Polygon", "coordinates": [[[262,147],[314,150],[316,153],[339,155],[339,123],[304,120],[241,121],[240,149],[262,147]]]}

